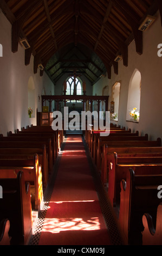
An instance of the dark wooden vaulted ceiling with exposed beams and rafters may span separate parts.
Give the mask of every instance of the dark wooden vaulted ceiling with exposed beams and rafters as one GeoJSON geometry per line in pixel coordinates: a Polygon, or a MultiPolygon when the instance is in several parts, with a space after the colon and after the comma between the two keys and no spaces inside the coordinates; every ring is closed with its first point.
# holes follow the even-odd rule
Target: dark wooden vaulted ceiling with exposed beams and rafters
{"type": "Polygon", "coordinates": [[[24,63],[34,56],[34,74],[42,64],[51,80],[77,72],[94,84],[111,78],[116,56],[128,65],[128,45],[134,39],[142,54],[139,25],[146,15],[161,14],[161,0],[1,0],[0,8],[12,25],[12,52],[27,39],[24,63]]]}

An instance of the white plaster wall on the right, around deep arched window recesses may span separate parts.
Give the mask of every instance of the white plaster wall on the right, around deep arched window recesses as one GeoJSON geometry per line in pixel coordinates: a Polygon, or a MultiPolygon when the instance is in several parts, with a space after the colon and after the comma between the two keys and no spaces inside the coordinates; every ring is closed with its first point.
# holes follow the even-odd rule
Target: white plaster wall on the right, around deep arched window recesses
{"type": "MultiPolygon", "coordinates": [[[[162,43],[162,28],[159,12],[157,20],[143,33],[143,53],[140,56],[135,50],[135,41],[128,46],[128,66],[122,61],[119,63],[118,75],[112,78],[102,78],[93,86],[93,95],[101,95],[105,84],[109,87],[109,99],[111,99],[112,86],[116,81],[121,81],[119,120],[121,126],[139,131],[141,135],[148,133],[148,138],[162,139],[162,57],[158,57],[158,45],[162,43]],[[139,123],[126,121],[128,86],[135,69],[141,72],[141,100],[139,123]]],[[[110,103],[110,100],[109,100],[110,103]]],[[[114,122],[116,123],[116,122],[114,122]]]]}

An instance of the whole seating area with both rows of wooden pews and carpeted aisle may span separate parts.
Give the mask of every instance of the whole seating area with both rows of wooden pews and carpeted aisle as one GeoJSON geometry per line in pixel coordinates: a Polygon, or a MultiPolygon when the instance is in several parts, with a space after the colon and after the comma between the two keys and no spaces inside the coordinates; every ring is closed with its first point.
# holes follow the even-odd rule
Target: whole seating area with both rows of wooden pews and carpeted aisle
{"type": "Polygon", "coordinates": [[[0,245],[161,245],[161,138],[102,132],[1,134],[0,245]]]}

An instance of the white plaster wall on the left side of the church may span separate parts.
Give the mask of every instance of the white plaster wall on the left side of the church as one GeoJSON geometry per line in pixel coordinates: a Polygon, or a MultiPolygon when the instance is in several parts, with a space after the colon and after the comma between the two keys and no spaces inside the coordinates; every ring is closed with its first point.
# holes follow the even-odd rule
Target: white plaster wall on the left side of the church
{"type": "Polygon", "coordinates": [[[15,132],[23,126],[36,124],[35,118],[28,117],[28,81],[32,77],[35,86],[35,112],[41,111],[41,96],[43,87],[53,91],[53,83],[44,73],[40,77],[33,72],[33,56],[30,64],[24,65],[24,49],[18,45],[16,53],[11,52],[11,24],[0,11],[0,44],[3,46],[3,57],[0,57],[0,133],[4,136],[8,131],[15,132]]]}

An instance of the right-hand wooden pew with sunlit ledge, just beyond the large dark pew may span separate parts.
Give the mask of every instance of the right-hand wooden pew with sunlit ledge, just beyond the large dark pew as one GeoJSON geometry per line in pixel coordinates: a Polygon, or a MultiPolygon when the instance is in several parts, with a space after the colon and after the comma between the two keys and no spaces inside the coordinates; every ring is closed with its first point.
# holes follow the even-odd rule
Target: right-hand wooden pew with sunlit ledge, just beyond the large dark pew
{"type": "MultiPolygon", "coordinates": [[[[110,163],[111,164],[111,163],[110,163]]],[[[162,174],[162,157],[130,157],[125,163],[114,163],[112,168],[109,168],[108,177],[108,198],[113,206],[120,202],[120,181],[126,179],[127,169],[132,168],[135,174],[146,172],[152,174],[152,171],[160,170],[162,174]]]]}

